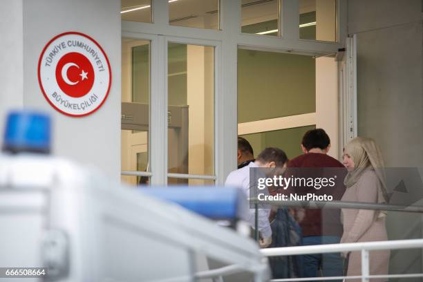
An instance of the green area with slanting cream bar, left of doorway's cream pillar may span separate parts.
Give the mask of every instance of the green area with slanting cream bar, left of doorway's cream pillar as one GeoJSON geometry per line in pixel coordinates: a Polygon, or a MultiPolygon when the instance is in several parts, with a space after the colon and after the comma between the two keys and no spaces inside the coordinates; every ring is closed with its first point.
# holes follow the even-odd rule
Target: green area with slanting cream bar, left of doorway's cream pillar
{"type": "Polygon", "coordinates": [[[302,153],[303,134],[315,128],[315,64],[306,55],[238,49],[238,135],[254,156],[266,147],[288,158],[302,153]]]}

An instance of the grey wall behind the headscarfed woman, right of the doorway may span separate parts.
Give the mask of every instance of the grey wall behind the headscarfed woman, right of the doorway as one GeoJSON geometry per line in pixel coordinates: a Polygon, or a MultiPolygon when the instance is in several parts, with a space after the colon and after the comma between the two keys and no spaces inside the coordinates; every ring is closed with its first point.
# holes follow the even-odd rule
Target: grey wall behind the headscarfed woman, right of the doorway
{"type": "MultiPolygon", "coordinates": [[[[377,141],[388,167],[421,173],[422,19],[421,0],[348,1],[348,33],[357,33],[358,134],[377,141]]],[[[421,238],[421,222],[420,214],[390,212],[388,237],[421,238]]],[[[390,272],[420,272],[421,254],[393,252],[390,272]]]]}

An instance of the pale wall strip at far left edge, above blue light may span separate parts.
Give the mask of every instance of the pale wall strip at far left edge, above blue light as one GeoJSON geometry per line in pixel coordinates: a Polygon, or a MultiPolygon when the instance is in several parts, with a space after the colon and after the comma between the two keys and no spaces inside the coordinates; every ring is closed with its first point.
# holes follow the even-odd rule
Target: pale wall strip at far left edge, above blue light
{"type": "Polygon", "coordinates": [[[6,113],[23,104],[22,0],[0,0],[0,147],[6,113]]]}

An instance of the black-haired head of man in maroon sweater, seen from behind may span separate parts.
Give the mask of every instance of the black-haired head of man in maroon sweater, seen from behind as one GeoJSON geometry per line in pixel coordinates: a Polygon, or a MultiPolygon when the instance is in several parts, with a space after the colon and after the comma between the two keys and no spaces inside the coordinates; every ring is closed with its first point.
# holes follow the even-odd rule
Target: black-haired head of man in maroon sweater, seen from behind
{"type": "Polygon", "coordinates": [[[303,153],[328,153],[330,138],[323,129],[312,129],[306,132],[301,141],[303,153]]]}

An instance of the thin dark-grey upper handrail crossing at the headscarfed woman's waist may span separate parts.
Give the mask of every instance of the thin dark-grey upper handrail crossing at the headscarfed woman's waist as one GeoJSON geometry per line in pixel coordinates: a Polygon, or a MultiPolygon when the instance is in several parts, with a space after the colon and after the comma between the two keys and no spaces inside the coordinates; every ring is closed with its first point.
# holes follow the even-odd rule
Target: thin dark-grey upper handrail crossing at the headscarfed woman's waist
{"type": "Polygon", "coordinates": [[[377,203],[344,202],[340,200],[259,200],[257,198],[250,198],[250,203],[281,207],[304,207],[310,209],[375,209],[383,211],[423,213],[423,207],[412,205],[387,205],[377,203]]]}

